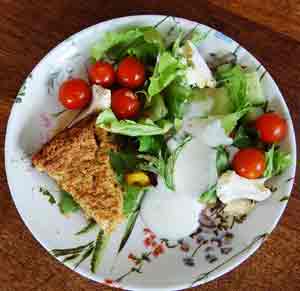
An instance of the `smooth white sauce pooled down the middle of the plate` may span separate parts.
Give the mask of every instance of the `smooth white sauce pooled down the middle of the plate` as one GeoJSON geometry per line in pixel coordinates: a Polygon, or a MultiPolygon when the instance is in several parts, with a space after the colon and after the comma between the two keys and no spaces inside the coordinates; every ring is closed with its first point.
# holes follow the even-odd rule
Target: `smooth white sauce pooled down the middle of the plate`
{"type": "MultiPolygon", "coordinates": [[[[223,128],[197,118],[186,121],[183,131],[190,133],[193,139],[184,146],[176,161],[176,190],[169,190],[160,179],[157,187],[147,193],[142,205],[145,224],[160,238],[175,240],[195,231],[199,214],[205,208],[197,198],[217,181],[216,150],[207,140],[214,144],[218,137],[219,143],[219,137],[225,136],[223,128]],[[209,131],[205,130],[208,126],[212,128],[209,131]]],[[[231,142],[227,136],[222,141],[231,142]]]]}

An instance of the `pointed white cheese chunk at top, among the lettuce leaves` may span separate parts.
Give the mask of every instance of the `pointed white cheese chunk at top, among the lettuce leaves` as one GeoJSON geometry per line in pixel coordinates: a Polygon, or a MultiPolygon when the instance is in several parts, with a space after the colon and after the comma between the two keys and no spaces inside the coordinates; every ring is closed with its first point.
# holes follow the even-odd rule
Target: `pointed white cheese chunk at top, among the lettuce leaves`
{"type": "Polygon", "coordinates": [[[190,64],[186,72],[188,84],[196,85],[199,88],[216,87],[216,80],[197,47],[188,40],[183,48],[183,52],[188,64],[190,64]]]}

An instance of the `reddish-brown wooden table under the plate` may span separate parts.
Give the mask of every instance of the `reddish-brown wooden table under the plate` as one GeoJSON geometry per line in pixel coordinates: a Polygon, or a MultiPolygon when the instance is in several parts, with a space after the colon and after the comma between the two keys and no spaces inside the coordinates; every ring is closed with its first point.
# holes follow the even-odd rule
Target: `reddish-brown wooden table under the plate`
{"type": "MultiPolygon", "coordinates": [[[[20,219],[4,170],[4,137],[22,80],[57,43],[97,22],[158,13],[208,24],[240,42],[273,75],[300,142],[300,3],[297,0],[0,0],[0,290],[112,290],[51,257],[20,219]]],[[[300,153],[298,152],[298,155],[300,153]]],[[[297,175],[299,181],[299,174],[297,175]]],[[[300,290],[300,198],[294,188],[276,230],[239,268],[193,290],[300,290]]]]}

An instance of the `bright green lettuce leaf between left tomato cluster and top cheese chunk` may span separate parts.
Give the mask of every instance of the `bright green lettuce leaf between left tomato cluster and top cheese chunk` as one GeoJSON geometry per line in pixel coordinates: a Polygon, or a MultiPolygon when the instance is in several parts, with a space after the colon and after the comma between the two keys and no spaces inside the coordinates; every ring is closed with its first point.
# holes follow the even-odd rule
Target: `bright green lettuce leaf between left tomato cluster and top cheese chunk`
{"type": "Polygon", "coordinates": [[[148,93],[154,96],[165,89],[176,77],[184,74],[185,66],[182,65],[170,52],[159,55],[154,74],[150,77],[148,93]]]}

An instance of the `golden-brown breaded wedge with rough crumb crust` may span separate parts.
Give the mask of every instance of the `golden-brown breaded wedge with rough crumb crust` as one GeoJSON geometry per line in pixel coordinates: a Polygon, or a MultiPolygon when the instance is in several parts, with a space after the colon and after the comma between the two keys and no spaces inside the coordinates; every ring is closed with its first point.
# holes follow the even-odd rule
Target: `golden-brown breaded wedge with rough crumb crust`
{"type": "Polygon", "coordinates": [[[32,163],[70,193],[87,217],[109,233],[123,219],[123,194],[109,161],[109,133],[90,116],[56,135],[32,163]]]}

